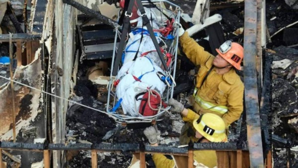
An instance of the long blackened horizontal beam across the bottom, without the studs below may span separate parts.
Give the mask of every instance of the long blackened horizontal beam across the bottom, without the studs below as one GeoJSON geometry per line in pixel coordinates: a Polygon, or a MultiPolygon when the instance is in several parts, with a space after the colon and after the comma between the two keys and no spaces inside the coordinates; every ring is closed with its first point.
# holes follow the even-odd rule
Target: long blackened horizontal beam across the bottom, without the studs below
{"type": "MultiPolygon", "coordinates": [[[[13,143],[3,141],[0,144],[1,149],[11,149],[11,150],[97,150],[97,151],[121,151],[121,152],[140,152],[139,144],[29,144],[29,143],[13,143]]],[[[194,144],[193,150],[219,150],[219,151],[237,151],[236,143],[198,143],[194,144]]],[[[240,150],[246,151],[247,149],[243,148],[240,150]]],[[[188,149],[177,148],[177,147],[167,147],[167,146],[158,146],[152,147],[149,145],[145,146],[146,153],[172,153],[172,154],[187,154],[188,149]]]]}

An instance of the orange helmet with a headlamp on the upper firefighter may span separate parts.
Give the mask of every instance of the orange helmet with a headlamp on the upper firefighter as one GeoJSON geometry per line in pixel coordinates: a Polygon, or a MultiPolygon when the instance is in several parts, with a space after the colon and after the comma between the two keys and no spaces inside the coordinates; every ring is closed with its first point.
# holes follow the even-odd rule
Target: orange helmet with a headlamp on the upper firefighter
{"type": "Polygon", "coordinates": [[[240,44],[227,40],[219,49],[216,49],[216,51],[225,61],[230,63],[237,70],[241,70],[240,63],[243,60],[244,51],[240,44]]]}

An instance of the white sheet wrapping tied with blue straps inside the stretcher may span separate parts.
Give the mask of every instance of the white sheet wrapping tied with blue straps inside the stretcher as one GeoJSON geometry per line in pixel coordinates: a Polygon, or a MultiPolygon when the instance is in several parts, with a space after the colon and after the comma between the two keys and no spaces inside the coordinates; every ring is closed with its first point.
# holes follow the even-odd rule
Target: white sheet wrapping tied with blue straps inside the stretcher
{"type": "MultiPolygon", "coordinates": [[[[153,30],[159,29],[160,24],[152,10],[145,8],[153,30]]],[[[139,13],[140,15],[140,13],[139,13]]],[[[123,66],[117,74],[116,80],[120,80],[116,87],[117,100],[122,99],[121,107],[125,115],[140,116],[139,108],[141,100],[136,100],[136,95],[146,91],[147,88],[154,89],[162,95],[166,85],[159,79],[157,72],[163,74],[160,68],[161,61],[156,52],[154,44],[149,36],[146,26],[142,26],[142,17],[138,18],[137,28],[130,34],[130,39],[125,48],[123,66]],[[143,27],[143,29],[142,29],[143,27]],[[141,32],[143,31],[143,39],[141,32]],[[134,61],[136,52],[139,49],[137,58],[134,61]],[[146,53],[146,54],[144,54],[146,53]]],[[[155,33],[157,42],[160,43],[160,33],[155,33]]]]}

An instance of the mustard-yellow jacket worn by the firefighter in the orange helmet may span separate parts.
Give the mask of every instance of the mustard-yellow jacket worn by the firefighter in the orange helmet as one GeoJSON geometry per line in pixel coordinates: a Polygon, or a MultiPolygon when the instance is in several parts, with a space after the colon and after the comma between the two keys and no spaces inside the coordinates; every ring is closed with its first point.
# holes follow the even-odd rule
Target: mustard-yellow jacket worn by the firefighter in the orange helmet
{"type": "Polygon", "coordinates": [[[198,88],[196,95],[199,98],[197,98],[197,103],[194,105],[194,110],[200,114],[215,113],[224,119],[226,126],[239,119],[243,111],[244,85],[235,70],[231,69],[224,75],[219,75],[216,72],[216,68],[214,68],[204,84],[202,84],[204,77],[213,65],[215,57],[189,37],[187,32],[179,37],[179,42],[186,56],[195,65],[201,66],[196,77],[196,87],[198,88]],[[204,102],[203,105],[202,102],[204,102]],[[207,108],[213,105],[221,108],[225,106],[227,107],[227,112],[223,112],[224,110],[215,111],[215,108],[207,108]]]}

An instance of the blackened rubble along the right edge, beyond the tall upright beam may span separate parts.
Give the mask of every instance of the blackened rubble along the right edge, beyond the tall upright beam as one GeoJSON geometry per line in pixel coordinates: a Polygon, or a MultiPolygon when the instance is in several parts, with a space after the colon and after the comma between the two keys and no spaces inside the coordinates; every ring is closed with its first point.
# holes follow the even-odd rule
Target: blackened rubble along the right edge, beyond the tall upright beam
{"type": "Polygon", "coordinates": [[[267,48],[271,50],[265,57],[272,59],[270,132],[289,143],[272,142],[276,168],[298,167],[298,35],[294,33],[298,29],[298,10],[287,5],[289,1],[266,2],[266,23],[271,37],[267,48]]]}

